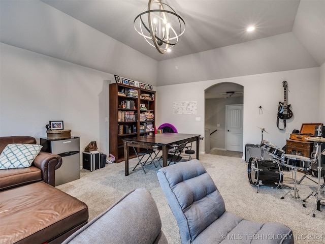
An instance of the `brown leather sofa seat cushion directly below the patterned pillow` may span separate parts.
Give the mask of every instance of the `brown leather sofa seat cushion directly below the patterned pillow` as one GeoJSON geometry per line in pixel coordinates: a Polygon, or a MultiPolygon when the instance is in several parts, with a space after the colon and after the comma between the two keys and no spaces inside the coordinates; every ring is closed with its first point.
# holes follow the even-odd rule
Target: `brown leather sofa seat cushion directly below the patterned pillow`
{"type": "Polygon", "coordinates": [[[0,170],[0,190],[41,180],[42,170],[35,166],[0,170]]]}

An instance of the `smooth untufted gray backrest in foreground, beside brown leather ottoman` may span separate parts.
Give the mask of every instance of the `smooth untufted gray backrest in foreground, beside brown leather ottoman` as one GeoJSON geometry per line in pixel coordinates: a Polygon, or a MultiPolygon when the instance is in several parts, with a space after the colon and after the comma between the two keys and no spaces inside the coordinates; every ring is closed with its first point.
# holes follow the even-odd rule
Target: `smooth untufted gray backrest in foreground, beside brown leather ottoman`
{"type": "Polygon", "coordinates": [[[62,244],[68,243],[166,244],[167,239],[154,199],[148,190],[140,188],[126,194],[62,244]]]}

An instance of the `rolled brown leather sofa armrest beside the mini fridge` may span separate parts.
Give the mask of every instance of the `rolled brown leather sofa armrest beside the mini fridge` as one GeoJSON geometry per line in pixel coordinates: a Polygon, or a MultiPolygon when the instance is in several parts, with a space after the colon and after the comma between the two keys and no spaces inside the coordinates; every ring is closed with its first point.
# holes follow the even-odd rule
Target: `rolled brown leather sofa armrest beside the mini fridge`
{"type": "Polygon", "coordinates": [[[61,167],[61,156],[40,151],[33,162],[34,166],[42,170],[44,182],[51,186],[55,186],[55,170],[61,167]]]}

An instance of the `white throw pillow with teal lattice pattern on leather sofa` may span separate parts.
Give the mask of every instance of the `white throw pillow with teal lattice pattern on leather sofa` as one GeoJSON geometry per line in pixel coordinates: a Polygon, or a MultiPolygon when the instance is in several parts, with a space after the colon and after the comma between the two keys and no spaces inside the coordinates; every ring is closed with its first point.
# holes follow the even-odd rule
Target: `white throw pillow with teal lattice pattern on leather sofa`
{"type": "Polygon", "coordinates": [[[0,155],[0,169],[29,167],[42,147],[36,144],[8,144],[0,155]]]}

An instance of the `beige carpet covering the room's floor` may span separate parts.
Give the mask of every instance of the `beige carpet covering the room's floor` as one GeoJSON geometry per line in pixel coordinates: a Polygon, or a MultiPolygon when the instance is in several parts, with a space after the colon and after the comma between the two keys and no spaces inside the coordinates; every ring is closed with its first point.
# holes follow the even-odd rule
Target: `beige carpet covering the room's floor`
{"type": "MultiPolygon", "coordinates": [[[[322,211],[316,211],[312,217],[315,197],[306,201],[306,208],[299,199],[294,199],[289,193],[281,199],[288,190],[257,187],[248,181],[247,163],[240,158],[216,155],[202,155],[200,161],[213,178],[218,187],[228,211],[243,218],[258,222],[279,222],[293,229],[295,243],[324,243],[325,206],[322,211]],[[322,236],[321,236],[322,235],[322,236]]],[[[163,231],[170,244],[180,243],[176,220],[167,204],[167,200],[160,189],[153,165],[146,166],[147,174],[141,168],[132,171],[136,159],[130,162],[130,175],[124,175],[124,163],[109,164],[105,168],[89,172],[81,171],[81,178],[57,188],[84,201],[89,207],[89,220],[110,207],[127,192],[145,187],[156,201],[163,231]]],[[[291,173],[285,172],[284,181],[293,182],[291,173]]],[[[302,176],[299,173],[297,177],[302,176]]],[[[307,197],[316,184],[305,178],[298,186],[302,198],[307,197]]],[[[263,243],[263,242],[261,242],[263,243]]]]}

